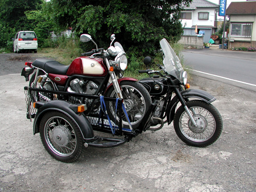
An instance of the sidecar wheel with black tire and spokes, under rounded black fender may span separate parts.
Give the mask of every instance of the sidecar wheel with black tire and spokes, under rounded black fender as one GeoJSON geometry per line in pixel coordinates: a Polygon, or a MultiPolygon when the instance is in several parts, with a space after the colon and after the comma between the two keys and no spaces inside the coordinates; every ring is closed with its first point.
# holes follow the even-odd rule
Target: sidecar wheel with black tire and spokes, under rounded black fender
{"type": "Polygon", "coordinates": [[[66,114],[58,111],[46,113],[39,126],[42,144],[58,161],[71,163],[82,152],[82,136],[77,124],[66,114]]]}

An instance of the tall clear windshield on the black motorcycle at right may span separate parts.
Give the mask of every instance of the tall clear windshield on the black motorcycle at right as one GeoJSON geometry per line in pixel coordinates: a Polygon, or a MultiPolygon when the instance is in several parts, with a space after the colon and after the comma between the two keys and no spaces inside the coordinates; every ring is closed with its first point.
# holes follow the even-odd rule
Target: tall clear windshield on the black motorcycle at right
{"type": "Polygon", "coordinates": [[[166,72],[182,81],[182,73],[184,70],[181,66],[179,57],[174,52],[173,48],[170,47],[165,38],[160,41],[160,46],[164,53],[163,64],[166,72]]]}

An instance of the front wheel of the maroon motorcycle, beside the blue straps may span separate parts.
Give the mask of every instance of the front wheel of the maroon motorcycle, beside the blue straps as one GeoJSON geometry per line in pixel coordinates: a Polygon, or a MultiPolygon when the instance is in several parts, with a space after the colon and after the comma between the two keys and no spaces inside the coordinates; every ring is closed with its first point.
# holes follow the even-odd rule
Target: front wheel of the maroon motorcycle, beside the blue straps
{"type": "MultiPolygon", "coordinates": [[[[133,129],[136,129],[142,118],[144,117],[147,110],[150,108],[152,103],[150,94],[147,90],[136,81],[122,81],[120,82],[122,89],[122,95],[124,97],[124,107],[129,116],[131,125],[133,129]]],[[[108,92],[105,94],[106,97],[117,98],[114,86],[112,86],[108,92]]],[[[119,108],[119,106],[118,106],[119,108]]],[[[110,119],[119,125],[119,114],[117,110],[117,115],[115,115],[115,103],[106,103],[106,110],[110,116],[110,119]]],[[[129,123],[126,120],[124,113],[122,113],[122,124],[123,128],[130,129],[129,123]]]]}

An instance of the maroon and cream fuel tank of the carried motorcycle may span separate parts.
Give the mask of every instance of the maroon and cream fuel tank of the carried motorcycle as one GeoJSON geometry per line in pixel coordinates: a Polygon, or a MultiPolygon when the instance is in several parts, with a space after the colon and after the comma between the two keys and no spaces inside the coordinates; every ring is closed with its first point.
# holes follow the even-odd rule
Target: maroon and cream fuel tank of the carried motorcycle
{"type": "Polygon", "coordinates": [[[108,73],[102,58],[78,57],[71,63],[68,76],[84,75],[102,77],[108,73]]]}

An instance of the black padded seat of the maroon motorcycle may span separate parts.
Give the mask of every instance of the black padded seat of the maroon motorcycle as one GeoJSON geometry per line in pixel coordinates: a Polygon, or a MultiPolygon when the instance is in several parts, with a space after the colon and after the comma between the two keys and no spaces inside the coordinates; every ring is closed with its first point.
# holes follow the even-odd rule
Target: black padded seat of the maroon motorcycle
{"type": "Polygon", "coordinates": [[[36,59],[32,65],[34,67],[40,68],[47,73],[66,75],[69,66],[63,65],[55,60],[49,59],[36,59]]]}

